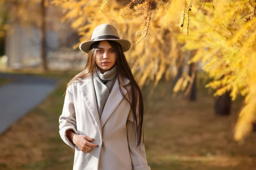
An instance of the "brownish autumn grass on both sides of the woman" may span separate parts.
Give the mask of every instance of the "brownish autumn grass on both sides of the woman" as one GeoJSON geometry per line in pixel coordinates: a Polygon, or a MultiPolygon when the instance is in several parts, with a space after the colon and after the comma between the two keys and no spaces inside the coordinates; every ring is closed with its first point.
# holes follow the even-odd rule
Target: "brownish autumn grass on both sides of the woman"
{"type": "MultiPolygon", "coordinates": [[[[74,150],[58,133],[65,83],[74,74],[47,74],[62,81],[58,88],[0,136],[0,170],[70,170],[74,150]]],[[[217,116],[214,98],[206,90],[189,102],[172,96],[172,82],[159,82],[151,99],[152,83],[143,89],[144,138],[152,170],[253,170],[256,135],[244,144],[233,141],[233,127],[241,102],[230,116],[217,116]]]]}

